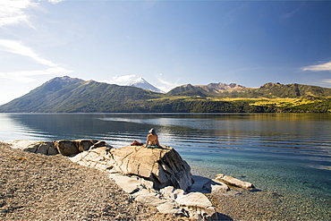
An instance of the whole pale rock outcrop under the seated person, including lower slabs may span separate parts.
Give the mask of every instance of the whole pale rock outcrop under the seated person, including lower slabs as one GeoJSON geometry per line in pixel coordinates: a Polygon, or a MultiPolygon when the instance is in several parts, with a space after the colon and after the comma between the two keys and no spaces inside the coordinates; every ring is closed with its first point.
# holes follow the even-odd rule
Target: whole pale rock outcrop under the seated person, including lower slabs
{"type": "Polygon", "coordinates": [[[185,194],[184,190],[192,185],[191,169],[173,148],[103,147],[70,158],[82,166],[106,171],[134,200],[156,207],[161,213],[216,220],[216,209],[204,194],[185,194]]]}

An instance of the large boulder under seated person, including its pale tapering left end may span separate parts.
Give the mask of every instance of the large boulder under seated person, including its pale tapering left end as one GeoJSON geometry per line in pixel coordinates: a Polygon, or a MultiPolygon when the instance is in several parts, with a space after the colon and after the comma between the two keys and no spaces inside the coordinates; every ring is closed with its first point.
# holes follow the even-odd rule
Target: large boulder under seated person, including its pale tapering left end
{"type": "Polygon", "coordinates": [[[152,188],[155,190],[173,186],[187,191],[193,183],[191,167],[173,148],[102,147],[90,149],[70,158],[82,166],[96,167],[107,172],[112,170],[129,176],[137,175],[153,182],[152,188]]]}

